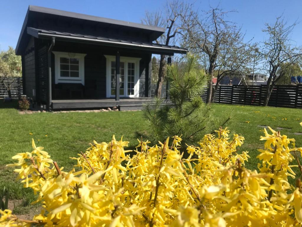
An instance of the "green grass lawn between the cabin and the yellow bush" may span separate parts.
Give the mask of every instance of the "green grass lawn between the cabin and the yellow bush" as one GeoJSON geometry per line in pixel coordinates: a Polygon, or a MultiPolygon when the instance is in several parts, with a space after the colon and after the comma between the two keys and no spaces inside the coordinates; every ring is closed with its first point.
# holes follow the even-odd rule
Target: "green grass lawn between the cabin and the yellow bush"
{"type": "MultiPolygon", "coordinates": [[[[11,156],[16,153],[32,150],[31,138],[34,138],[36,145],[44,146],[44,150],[50,153],[59,166],[71,169],[75,162],[69,157],[85,151],[92,140],[108,142],[113,134],[116,138],[124,135],[124,140],[130,141],[130,149],[133,149],[137,145],[135,132],[143,130],[145,124],[141,111],[21,115],[15,106],[15,103],[0,102],[0,189],[8,186],[11,199],[24,199],[21,204],[23,207],[26,207],[34,196],[29,189],[23,189],[21,184],[14,182],[12,169],[6,168],[5,165],[12,163],[11,156]]],[[[271,126],[274,129],[284,128],[281,134],[295,138],[296,145],[302,146],[302,135],[294,134],[302,133],[302,127],[299,125],[302,121],[302,110],[224,104],[213,104],[213,110],[217,117],[221,113],[233,115],[230,129],[245,137],[241,151],[249,151],[251,158],[246,165],[251,169],[257,168],[257,149],[263,145],[259,141],[263,128],[259,125],[271,126]]],[[[20,209],[17,207],[15,212],[20,212],[20,209]]]]}

